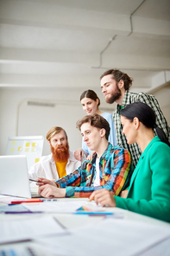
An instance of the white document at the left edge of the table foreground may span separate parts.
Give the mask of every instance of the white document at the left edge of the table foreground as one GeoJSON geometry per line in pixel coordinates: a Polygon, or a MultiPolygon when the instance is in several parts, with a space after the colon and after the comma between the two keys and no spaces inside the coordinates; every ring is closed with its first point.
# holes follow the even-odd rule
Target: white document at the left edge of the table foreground
{"type": "Polygon", "coordinates": [[[18,240],[32,240],[54,234],[66,234],[66,229],[52,216],[37,216],[15,221],[0,221],[0,244],[18,240]]]}

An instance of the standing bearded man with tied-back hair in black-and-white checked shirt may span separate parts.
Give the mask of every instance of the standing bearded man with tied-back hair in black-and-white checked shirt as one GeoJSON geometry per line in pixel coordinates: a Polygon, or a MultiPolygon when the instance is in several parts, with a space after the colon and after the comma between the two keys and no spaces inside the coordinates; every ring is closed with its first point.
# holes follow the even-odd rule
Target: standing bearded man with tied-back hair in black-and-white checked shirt
{"type": "Polygon", "coordinates": [[[104,93],[105,101],[109,104],[116,102],[116,112],[113,113],[114,124],[116,127],[117,144],[129,150],[132,163],[135,168],[141,157],[142,151],[137,144],[127,144],[125,135],[123,134],[123,126],[121,125],[120,109],[131,103],[141,101],[150,106],[156,115],[156,125],[158,125],[167,135],[170,142],[170,127],[167,120],[161,112],[159,103],[153,95],[148,93],[131,93],[129,87],[132,85],[132,79],[117,69],[110,69],[104,72],[100,77],[101,88],[104,93]]]}

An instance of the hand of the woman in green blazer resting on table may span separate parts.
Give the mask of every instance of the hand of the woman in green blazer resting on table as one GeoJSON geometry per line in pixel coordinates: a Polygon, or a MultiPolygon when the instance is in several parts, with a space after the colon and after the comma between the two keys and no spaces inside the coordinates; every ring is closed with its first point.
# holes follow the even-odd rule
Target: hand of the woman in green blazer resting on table
{"type": "Polygon", "coordinates": [[[116,207],[115,197],[110,195],[107,189],[98,189],[92,192],[90,196],[90,201],[93,200],[96,204],[100,203],[103,207],[109,205],[110,207],[116,207]]]}

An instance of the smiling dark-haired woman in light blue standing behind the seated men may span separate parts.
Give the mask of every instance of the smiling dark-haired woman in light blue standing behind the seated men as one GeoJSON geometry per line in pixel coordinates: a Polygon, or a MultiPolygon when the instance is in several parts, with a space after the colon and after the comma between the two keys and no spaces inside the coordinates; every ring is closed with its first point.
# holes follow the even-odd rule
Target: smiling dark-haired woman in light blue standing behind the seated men
{"type": "MultiPolygon", "coordinates": [[[[110,136],[108,141],[113,146],[116,146],[116,130],[115,125],[113,123],[113,117],[109,112],[101,112],[98,108],[100,105],[100,99],[98,98],[97,93],[95,93],[92,90],[86,90],[83,92],[80,96],[81,105],[83,107],[83,110],[87,113],[87,115],[92,115],[94,113],[97,113],[98,115],[101,115],[103,118],[105,118],[108,123],[110,124],[110,136]]],[[[74,156],[78,159],[80,159],[80,155],[82,154],[82,150],[85,152],[85,155],[88,156],[92,153],[92,151],[87,147],[84,141],[82,141],[82,149],[79,149],[75,152],[74,156]]]]}

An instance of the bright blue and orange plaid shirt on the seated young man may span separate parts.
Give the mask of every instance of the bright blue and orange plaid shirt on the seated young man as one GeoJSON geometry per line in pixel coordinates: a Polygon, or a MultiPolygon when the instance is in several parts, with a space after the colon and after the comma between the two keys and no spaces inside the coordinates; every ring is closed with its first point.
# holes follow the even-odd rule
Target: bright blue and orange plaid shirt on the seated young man
{"type": "Polygon", "coordinates": [[[97,189],[109,189],[112,195],[119,195],[129,185],[132,165],[128,150],[108,144],[99,160],[100,186],[93,187],[96,157],[97,154],[91,161],[85,160],[79,169],[56,181],[59,188],[66,188],[66,197],[89,197],[97,189]]]}

